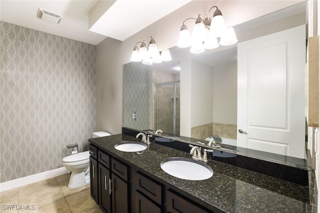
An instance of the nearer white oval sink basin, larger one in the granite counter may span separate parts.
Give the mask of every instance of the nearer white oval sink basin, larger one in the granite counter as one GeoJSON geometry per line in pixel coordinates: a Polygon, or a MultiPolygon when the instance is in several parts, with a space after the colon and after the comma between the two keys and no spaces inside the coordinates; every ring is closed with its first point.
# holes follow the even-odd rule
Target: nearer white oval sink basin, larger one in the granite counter
{"type": "Polygon", "coordinates": [[[161,162],[161,168],[172,176],[188,180],[203,180],[213,175],[213,171],[208,165],[184,157],[167,158],[161,162]]]}

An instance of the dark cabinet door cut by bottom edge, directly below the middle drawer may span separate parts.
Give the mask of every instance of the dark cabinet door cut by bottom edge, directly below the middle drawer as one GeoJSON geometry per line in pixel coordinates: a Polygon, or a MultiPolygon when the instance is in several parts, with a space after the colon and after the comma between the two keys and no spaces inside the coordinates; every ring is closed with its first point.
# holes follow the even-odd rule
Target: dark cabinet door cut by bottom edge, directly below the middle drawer
{"type": "Polygon", "coordinates": [[[135,191],[135,200],[134,200],[134,206],[135,208],[133,209],[134,213],[160,213],[161,208],[158,207],[156,204],[151,202],[149,199],[144,197],[142,194],[139,192],[135,191]]]}

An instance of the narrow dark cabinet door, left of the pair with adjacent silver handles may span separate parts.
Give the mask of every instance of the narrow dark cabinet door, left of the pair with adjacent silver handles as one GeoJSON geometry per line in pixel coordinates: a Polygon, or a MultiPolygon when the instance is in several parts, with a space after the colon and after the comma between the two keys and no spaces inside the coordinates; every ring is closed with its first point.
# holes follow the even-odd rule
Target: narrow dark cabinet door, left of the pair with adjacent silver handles
{"type": "Polygon", "coordinates": [[[110,195],[110,170],[102,164],[98,164],[99,168],[99,205],[101,210],[111,213],[111,195],[110,195]]]}

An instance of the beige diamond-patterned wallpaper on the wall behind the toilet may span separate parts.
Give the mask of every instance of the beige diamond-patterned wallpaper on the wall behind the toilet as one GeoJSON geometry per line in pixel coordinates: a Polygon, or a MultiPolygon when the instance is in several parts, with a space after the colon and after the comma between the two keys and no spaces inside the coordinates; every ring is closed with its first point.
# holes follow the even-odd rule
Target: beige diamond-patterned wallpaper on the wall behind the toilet
{"type": "Polygon", "coordinates": [[[95,46],[1,21],[0,182],[62,167],[95,130],[95,46]]]}

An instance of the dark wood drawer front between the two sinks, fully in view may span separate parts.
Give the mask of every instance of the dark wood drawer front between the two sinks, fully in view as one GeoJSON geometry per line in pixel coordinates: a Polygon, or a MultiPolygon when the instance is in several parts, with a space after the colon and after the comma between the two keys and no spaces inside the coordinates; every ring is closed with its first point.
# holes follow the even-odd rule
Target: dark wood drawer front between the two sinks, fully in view
{"type": "Polygon", "coordinates": [[[161,185],[154,180],[144,176],[139,171],[135,173],[133,179],[136,190],[141,191],[146,196],[161,205],[161,185]]]}

